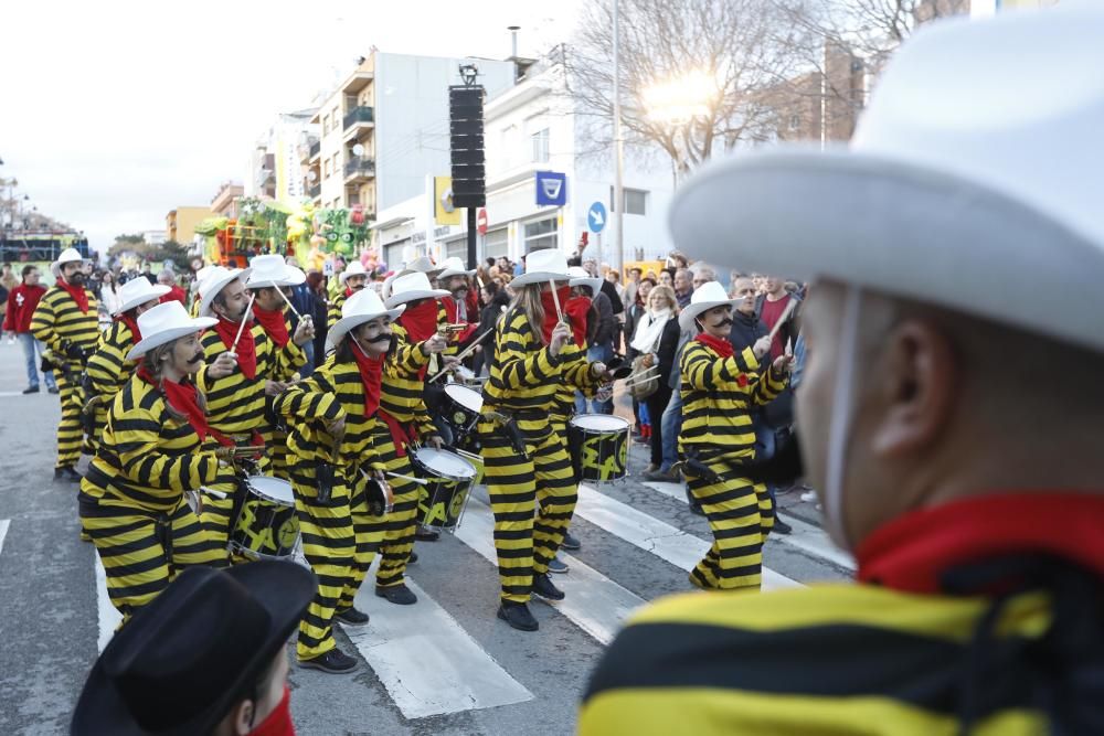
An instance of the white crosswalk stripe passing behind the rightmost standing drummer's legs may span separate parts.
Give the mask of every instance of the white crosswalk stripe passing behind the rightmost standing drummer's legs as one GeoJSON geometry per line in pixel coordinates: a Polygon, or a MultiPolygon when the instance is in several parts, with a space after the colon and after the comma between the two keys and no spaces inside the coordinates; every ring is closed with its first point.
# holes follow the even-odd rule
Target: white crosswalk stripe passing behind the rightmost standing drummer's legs
{"type": "MultiPolygon", "coordinates": [[[[666,559],[689,572],[705,556],[710,542],[659,521],[622,503],[590,486],[578,487],[575,513],[586,521],[616,534],[629,544],[666,559]]],[[[763,567],[763,589],[802,587],[797,580],[763,567]]]]}

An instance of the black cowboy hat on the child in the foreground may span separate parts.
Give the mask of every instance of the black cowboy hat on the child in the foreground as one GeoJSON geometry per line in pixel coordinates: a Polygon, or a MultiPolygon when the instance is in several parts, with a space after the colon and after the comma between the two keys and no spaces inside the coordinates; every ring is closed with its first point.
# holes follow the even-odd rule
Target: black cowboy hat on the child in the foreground
{"type": "Polygon", "coordinates": [[[71,733],[209,733],[248,696],[316,587],[290,562],[184,570],[96,660],[71,733]]]}

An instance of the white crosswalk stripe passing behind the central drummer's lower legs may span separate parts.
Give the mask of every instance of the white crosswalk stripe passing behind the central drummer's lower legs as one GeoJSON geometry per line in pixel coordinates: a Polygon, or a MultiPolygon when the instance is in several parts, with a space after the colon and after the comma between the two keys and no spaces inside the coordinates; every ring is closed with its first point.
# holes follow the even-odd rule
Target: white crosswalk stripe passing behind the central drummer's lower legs
{"type": "MultiPolygon", "coordinates": [[[[456,536],[498,565],[490,506],[471,499],[456,536]]],[[[608,644],[625,625],[625,619],[647,601],[571,555],[561,552],[560,559],[571,567],[567,575],[556,575],[554,580],[566,597],[551,605],[583,631],[608,644]]]]}

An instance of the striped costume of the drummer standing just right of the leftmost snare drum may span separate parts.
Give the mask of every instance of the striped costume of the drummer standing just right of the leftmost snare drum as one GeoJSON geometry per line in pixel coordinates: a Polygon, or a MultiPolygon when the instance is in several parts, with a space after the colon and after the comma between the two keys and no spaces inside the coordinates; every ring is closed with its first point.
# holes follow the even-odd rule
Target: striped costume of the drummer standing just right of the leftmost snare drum
{"type": "Polygon", "coordinates": [[[318,576],[318,593],[299,625],[300,660],[335,647],[332,622],[352,607],[384,535],[384,520],[369,515],[362,471],[381,467],[373,451],[376,419],[364,415],[364,388],[355,362],[333,358],[276,397],[276,414],[288,425],[288,451],[302,551],[318,576]],[[335,462],[327,423],[344,417],[346,434],[335,462]],[[328,503],[318,500],[320,463],[333,466],[328,503]]]}

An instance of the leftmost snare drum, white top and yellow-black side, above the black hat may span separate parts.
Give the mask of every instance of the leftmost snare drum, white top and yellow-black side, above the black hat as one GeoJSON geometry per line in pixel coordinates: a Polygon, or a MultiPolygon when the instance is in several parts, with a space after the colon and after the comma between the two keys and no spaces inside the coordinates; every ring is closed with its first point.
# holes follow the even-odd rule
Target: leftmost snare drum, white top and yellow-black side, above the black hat
{"type": "Polygon", "coordinates": [[[251,559],[288,557],[299,541],[291,484],[279,478],[250,476],[248,495],[230,534],[230,548],[251,559]]]}

